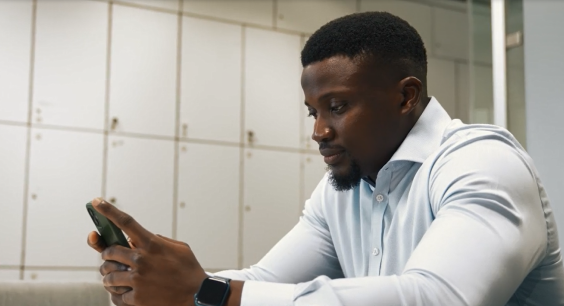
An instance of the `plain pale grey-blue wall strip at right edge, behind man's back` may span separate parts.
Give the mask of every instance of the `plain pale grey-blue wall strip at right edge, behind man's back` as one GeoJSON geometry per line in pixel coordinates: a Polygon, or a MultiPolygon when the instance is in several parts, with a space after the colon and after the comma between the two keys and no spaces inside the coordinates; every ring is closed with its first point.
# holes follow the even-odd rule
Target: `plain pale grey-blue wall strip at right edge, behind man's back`
{"type": "Polygon", "coordinates": [[[527,149],[540,172],[564,245],[564,2],[523,1],[527,149]]]}

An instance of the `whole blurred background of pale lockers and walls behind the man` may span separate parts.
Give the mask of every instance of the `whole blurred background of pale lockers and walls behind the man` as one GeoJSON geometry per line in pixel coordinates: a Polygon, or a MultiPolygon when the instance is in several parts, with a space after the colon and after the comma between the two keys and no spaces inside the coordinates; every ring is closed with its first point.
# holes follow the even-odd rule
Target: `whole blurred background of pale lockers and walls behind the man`
{"type": "Polygon", "coordinates": [[[363,11],[418,30],[451,117],[528,148],[564,228],[563,3],[504,1],[502,84],[489,0],[0,0],[0,280],[99,279],[96,196],[208,271],[257,262],[325,173],[301,48],[363,11]]]}

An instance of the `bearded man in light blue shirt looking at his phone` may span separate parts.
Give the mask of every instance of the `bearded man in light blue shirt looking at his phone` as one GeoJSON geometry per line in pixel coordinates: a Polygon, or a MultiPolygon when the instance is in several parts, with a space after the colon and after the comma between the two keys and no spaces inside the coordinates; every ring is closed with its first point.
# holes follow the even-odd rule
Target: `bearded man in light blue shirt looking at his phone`
{"type": "Polygon", "coordinates": [[[302,64],[329,173],[299,223],[257,265],[209,278],[188,246],[95,200],[135,245],[88,238],[115,304],[564,305],[532,160],[506,130],[451,120],[427,97],[415,29],[388,13],[339,18],[302,64]]]}

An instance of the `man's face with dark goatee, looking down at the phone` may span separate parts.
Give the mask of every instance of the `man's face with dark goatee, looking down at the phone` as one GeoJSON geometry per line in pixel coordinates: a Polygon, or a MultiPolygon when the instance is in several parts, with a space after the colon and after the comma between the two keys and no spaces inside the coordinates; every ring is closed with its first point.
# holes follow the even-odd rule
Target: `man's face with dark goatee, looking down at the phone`
{"type": "Polygon", "coordinates": [[[374,63],[334,56],[306,66],[301,82],[335,189],[375,178],[405,137],[399,80],[374,63]]]}

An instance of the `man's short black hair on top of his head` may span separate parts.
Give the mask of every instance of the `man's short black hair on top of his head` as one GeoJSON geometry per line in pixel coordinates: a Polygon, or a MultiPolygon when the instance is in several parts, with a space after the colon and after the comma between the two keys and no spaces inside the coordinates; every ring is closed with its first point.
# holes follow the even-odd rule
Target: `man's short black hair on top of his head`
{"type": "Polygon", "coordinates": [[[365,12],[335,19],[317,30],[302,50],[302,66],[342,55],[367,56],[390,65],[401,78],[415,76],[426,84],[427,54],[417,30],[386,12],[365,12]]]}

